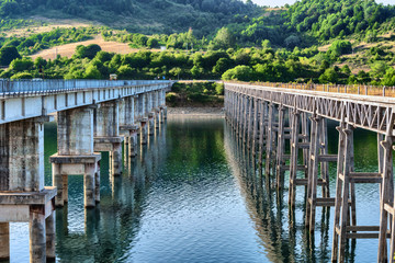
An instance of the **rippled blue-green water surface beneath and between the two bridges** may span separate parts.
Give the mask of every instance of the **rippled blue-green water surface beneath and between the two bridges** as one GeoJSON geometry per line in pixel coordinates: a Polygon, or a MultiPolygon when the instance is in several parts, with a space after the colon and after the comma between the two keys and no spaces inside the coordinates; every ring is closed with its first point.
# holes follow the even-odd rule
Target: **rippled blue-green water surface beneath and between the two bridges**
{"type": "MultiPolygon", "coordinates": [[[[335,124],[330,151],[337,151],[335,124]]],[[[56,126],[46,125],[48,157],[56,126]]],[[[376,137],[356,134],[356,170],[376,171],[376,137]]],[[[58,262],[329,262],[334,210],[317,210],[315,239],[304,231],[304,188],[294,214],[287,185],[275,193],[222,118],[170,118],[124,175],[101,163],[101,203],[83,208],[82,176],[69,178],[69,204],[56,210],[58,262]]],[[[331,165],[334,196],[336,165],[331,165]]],[[[286,175],[287,176],[287,175],[286,175]]],[[[287,182],[287,180],[285,180],[287,182]]],[[[359,225],[379,225],[379,187],[357,187],[359,225]]],[[[11,225],[12,262],[29,261],[26,224],[11,225]]],[[[358,240],[350,262],[375,262],[377,240],[358,240]]]]}

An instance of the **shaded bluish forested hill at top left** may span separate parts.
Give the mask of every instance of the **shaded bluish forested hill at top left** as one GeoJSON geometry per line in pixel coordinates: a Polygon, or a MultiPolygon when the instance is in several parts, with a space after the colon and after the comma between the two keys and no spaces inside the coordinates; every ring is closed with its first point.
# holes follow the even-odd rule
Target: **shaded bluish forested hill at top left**
{"type": "Polygon", "coordinates": [[[0,0],[0,15],[84,19],[115,28],[144,34],[213,33],[259,8],[240,0],[0,0]]]}

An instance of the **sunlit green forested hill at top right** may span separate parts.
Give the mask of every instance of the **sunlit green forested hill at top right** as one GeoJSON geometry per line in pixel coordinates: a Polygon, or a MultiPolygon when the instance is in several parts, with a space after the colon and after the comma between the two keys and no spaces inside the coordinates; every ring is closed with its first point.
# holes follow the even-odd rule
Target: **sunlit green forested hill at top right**
{"type": "Polygon", "coordinates": [[[395,5],[374,0],[302,0],[263,10],[259,18],[230,27],[239,43],[250,46],[269,39],[278,47],[308,47],[351,35],[375,42],[377,35],[394,32],[395,5]]]}

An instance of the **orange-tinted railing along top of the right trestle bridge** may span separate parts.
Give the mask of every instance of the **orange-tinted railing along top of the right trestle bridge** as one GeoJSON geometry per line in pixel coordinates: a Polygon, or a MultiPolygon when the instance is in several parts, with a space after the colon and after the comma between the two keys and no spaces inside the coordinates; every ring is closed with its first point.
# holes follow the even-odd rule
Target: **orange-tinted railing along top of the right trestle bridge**
{"type": "Polygon", "coordinates": [[[365,85],[365,84],[340,85],[340,84],[238,82],[238,81],[234,83],[244,83],[244,84],[248,83],[255,85],[283,88],[283,89],[292,89],[292,90],[309,90],[309,91],[321,91],[321,92],[331,92],[331,93],[395,98],[395,87],[385,87],[385,85],[365,85]]]}

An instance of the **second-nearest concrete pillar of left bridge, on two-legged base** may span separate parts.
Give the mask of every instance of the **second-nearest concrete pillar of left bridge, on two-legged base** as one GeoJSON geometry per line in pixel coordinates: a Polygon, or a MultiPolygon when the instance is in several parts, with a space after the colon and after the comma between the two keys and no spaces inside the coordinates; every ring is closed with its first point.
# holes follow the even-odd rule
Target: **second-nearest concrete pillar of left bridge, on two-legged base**
{"type": "Polygon", "coordinates": [[[99,172],[101,157],[93,151],[93,108],[87,106],[58,112],[58,152],[49,158],[53,163],[53,184],[58,188],[56,206],[64,206],[68,202],[67,176],[71,174],[83,174],[84,206],[95,205],[91,187],[92,184],[95,187],[94,174],[99,172]]]}

